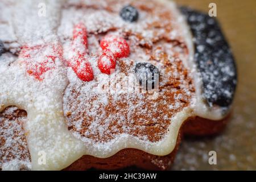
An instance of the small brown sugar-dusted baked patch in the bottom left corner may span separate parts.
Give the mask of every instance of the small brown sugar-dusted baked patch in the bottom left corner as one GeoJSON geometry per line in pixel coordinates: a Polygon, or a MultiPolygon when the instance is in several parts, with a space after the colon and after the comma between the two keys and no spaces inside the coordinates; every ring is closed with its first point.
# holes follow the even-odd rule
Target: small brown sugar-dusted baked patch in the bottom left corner
{"type": "MultiPolygon", "coordinates": [[[[30,163],[30,153],[27,147],[26,134],[23,122],[27,112],[17,107],[7,107],[0,113],[0,169],[11,160],[30,163]]],[[[26,169],[20,166],[20,169],[26,169]]]]}

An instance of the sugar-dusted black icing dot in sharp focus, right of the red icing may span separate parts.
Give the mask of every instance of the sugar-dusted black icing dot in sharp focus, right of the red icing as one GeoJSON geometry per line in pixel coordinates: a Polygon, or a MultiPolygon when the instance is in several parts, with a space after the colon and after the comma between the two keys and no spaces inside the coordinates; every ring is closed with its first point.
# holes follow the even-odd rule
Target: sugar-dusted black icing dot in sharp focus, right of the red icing
{"type": "Polygon", "coordinates": [[[134,71],[136,78],[143,89],[154,89],[155,84],[158,84],[159,71],[154,65],[150,63],[137,63],[134,71]]]}

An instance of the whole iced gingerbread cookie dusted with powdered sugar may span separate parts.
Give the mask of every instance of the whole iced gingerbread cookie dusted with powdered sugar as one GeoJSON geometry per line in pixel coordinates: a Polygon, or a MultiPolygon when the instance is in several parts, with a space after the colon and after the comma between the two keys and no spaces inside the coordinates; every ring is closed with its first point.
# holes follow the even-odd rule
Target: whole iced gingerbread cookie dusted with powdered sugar
{"type": "Polygon", "coordinates": [[[171,1],[0,10],[2,169],[168,169],[184,133],[225,126],[237,75],[215,19],[171,1]]]}

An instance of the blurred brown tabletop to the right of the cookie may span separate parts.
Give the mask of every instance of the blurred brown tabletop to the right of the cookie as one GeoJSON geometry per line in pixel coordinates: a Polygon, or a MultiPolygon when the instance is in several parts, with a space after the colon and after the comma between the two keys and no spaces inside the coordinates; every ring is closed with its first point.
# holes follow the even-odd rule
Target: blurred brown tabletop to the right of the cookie
{"type": "Polygon", "coordinates": [[[217,19],[232,47],[238,68],[233,115],[217,137],[185,138],[173,169],[256,170],[256,1],[176,0],[206,13],[217,4],[217,19]],[[217,152],[217,165],[209,165],[208,152],[217,152]]]}

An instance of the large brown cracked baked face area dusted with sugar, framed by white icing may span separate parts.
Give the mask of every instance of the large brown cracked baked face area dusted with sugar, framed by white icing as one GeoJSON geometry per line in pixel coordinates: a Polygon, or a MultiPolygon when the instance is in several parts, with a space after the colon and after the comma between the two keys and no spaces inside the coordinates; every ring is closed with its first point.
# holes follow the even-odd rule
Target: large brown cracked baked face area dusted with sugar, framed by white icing
{"type": "MultiPolygon", "coordinates": [[[[97,60],[101,52],[98,41],[114,32],[121,32],[127,40],[130,55],[127,59],[117,61],[115,73],[117,77],[124,75],[121,75],[120,79],[108,81],[106,77],[95,76],[96,84],[92,86],[88,82],[80,84],[70,81],[63,97],[68,129],[76,138],[83,142],[89,140],[95,145],[118,139],[118,135],[122,134],[158,142],[166,136],[171,118],[191,105],[195,97],[191,73],[184,65],[188,59],[188,47],[175,14],[155,1],[146,4],[143,1],[108,1],[108,7],[104,8],[99,3],[92,3],[93,7],[82,2],[71,3],[65,7],[65,11],[70,13],[75,7],[76,12],[80,12],[83,17],[86,17],[88,12],[89,15],[105,12],[105,16],[118,17],[121,8],[131,3],[143,18],[127,24],[127,27],[133,27],[130,30],[118,26],[123,22],[122,19],[108,23],[111,22],[108,18],[106,24],[92,20],[96,27],[100,27],[99,30],[87,27],[91,59],[96,57],[97,60]],[[101,11],[98,11],[99,9],[101,11]],[[118,85],[127,81],[125,79],[134,73],[135,65],[141,62],[155,65],[159,70],[159,96],[156,100],[151,100],[148,93],[129,93],[126,88],[121,89],[120,94],[94,92],[97,84],[110,85],[114,82],[118,85]],[[108,104],[105,104],[105,101],[108,104]]],[[[63,43],[65,42],[67,39],[63,40],[63,43]]]]}

